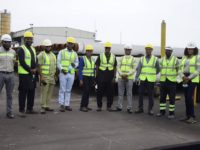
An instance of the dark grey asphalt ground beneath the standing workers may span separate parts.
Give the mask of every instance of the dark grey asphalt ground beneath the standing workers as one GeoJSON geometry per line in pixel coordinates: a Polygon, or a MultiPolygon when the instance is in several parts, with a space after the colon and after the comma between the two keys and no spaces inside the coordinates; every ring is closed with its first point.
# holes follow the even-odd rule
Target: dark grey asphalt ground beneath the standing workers
{"type": "MultiPolygon", "coordinates": [[[[106,111],[106,100],[102,112],[96,112],[96,98],[90,98],[90,112],[80,112],[82,89],[73,89],[72,112],[58,111],[58,87],[51,100],[54,112],[45,115],[18,116],[17,81],[14,90],[15,119],[7,119],[5,89],[0,94],[0,150],[139,150],[158,146],[196,142],[200,139],[200,123],[186,124],[179,121],[185,116],[184,99],[176,101],[176,118],[158,118],[145,113],[128,114],[106,111]]],[[[178,95],[182,96],[181,93],[178,95]]],[[[116,106],[117,97],[113,107],[116,106]]],[[[134,95],[133,105],[137,108],[138,97],[134,95]]],[[[126,101],[125,101],[126,105],[126,101]]],[[[124,105],[124,106],[125,106],[124,105]]],[[[40,88],[37,87],[35,110],[40,110],[40,88]]],[[[200,122],[200,105],[195,107],[200,122]]],[[[154,112],[157,113],[158,98],[155,98],[154,112]]]]}

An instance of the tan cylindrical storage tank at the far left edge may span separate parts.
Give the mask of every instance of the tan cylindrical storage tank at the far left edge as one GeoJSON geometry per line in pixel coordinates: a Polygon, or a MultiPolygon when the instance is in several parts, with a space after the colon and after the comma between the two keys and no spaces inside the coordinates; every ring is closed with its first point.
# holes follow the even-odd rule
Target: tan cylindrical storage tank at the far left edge
{"type": "Polygon", "coordinates": [[[0,12],[0,36],[3,34],[10,34],[11,14],[5,9],[0,12]]]}

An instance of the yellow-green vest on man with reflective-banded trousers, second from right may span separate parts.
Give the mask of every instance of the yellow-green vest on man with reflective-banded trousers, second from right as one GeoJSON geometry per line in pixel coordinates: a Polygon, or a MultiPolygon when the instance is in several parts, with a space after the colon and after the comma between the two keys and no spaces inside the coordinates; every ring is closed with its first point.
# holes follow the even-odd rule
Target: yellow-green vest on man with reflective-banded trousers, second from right
{"type": "Polygon", "coordinates": [[[160,62],[160,81],[164,82],[168,79],[171,82],[176,82],[177,77],[177,61],[178,59],[175,56],[171,56],[169,62],[167,62],[167,58],[164,57],[160,62]]]}

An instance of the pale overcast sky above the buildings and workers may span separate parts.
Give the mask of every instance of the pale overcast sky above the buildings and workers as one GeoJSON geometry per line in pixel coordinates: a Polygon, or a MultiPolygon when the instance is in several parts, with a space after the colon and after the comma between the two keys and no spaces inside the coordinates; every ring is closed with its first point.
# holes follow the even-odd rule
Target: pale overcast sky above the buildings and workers
{"type": "Polygon", "coordinates": [[[97,30],[97,39],[160,45],[160,27],[167,23],[167,45],[200,45],[200,0],[0,0],[11,12],[11,30],[65,26],[97,30]]]}

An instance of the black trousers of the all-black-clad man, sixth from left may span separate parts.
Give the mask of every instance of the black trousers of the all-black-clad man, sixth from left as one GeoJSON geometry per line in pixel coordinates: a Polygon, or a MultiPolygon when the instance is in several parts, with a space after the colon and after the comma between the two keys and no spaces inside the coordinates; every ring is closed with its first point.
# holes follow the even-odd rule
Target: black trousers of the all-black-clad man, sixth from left
{"type": "Polygon", "coordinates": [[[97,89],[97,106],[99,108],[102,107],[102,97],[104,92],[107,95],[107,108],[110,108],[113,104],[113,83],[111,81],[98,81],[98,89],[97,89]]]}

